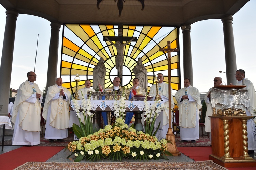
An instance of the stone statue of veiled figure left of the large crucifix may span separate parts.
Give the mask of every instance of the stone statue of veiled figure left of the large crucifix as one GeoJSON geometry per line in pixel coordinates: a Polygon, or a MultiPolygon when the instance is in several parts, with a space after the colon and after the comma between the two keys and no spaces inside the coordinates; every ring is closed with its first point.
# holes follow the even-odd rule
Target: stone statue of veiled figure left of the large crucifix
{"type": "Polygon", "coordinates": [[[105,76],[106,76],[106,67],[104,59],[100,58],[99,63],[93,69],[93,89],[97,89],[97,86],[102,86],[102,89],[105,89],[105,76]],[[100,85],[99,85],[100,84],[100,85]]]}

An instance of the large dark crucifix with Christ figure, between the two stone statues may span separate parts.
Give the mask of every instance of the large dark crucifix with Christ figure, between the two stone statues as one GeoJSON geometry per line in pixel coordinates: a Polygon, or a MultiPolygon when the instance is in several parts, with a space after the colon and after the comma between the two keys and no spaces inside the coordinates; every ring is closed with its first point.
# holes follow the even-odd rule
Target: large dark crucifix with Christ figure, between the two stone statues
{"type": "Polygon", "coordinates": [[[103,38],[104,41],[109,41],[117,50],[116,69],[118,70],[118,77],[122,82],[122,72],[124,64],[124,47],[131,41],[137,41],[137,37],[123,37],[123,24],[118,24],[118,37],[108,36],[103,38]],[[116,41],[113,43],[112,41],[116,41]],[[126,42],[123,44],[123,42],[126,42]]]}

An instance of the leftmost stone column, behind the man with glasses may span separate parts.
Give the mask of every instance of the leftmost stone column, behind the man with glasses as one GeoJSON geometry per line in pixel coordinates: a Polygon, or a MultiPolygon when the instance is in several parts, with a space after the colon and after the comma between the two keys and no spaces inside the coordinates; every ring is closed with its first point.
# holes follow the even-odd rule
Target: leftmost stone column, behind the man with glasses
{"type": "Polygon", "coordinates": [[[7,10],[0,68],[0,115],[8,115],[13,49],[18,12],[7,10]]]}

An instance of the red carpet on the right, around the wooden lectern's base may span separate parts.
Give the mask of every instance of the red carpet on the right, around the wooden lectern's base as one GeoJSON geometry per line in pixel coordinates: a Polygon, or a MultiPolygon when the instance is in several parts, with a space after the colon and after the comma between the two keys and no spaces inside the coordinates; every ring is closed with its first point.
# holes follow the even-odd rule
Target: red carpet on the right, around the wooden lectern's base
{"type": "MultiPolygon", "coordinates": [[[[179,152],[188,156],[195,161],[209,160],[209,155],[212,153],[212,147],[177,147],[179,152]]],[[[229,170],[255,170],[256,167],[246,168],[227,168],[229,170]]]]}

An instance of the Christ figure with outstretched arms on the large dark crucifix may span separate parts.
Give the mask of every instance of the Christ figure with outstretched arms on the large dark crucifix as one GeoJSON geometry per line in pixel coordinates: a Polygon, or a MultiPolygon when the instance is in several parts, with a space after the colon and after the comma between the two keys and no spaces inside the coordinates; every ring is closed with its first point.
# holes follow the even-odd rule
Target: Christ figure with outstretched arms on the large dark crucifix
{"type": "Polygon", "coordinates": [[[116,41],[116,43],[113,43],[108,37],[105,37],[105,38],[116,48],[116,51],[117,51],[116,69],[118,70],[119,78],[122,78],[123,64],[124,64],[124,46],[126,46],[133,39],[135,39],[135,37],[133,37],[131,40],[127,41],[124,44],[122,44],[120,41],[116,41]]]}

